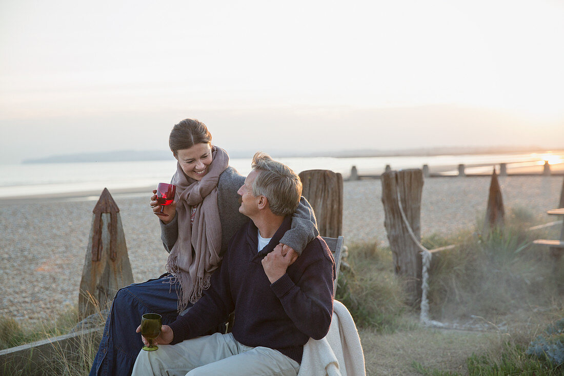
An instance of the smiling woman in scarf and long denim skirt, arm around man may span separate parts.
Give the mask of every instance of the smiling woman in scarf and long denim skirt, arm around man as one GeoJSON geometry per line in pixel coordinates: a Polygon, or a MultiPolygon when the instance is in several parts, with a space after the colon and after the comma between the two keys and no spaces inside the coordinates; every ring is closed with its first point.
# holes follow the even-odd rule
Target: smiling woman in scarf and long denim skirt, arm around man
{"type": "MultiPolygon", "coordinates": [[[[229,167],[222,148],[211,145],[211,134],[203,123],[180,121],[170,133],[169,146],[177,159],[171,181],[177,190],[175,202],[163,209],[168,217],[159,216],[161,239],[170,253],[168,273],[117,292],[91,376],[131,374],[142,346],[140,334],[135,333],[142,314],[160,313],[166,324],[190,308],[209,286],[232,235],[248,219],[239,213],[237,195],[245,177],[229,167]]],[[[150,205],[156,213],[160,206],[155,193],[150,205]]],[[[299,254],[318,234],[313,210],[302,197],[292,229],[280,243],[299,254]]]]}

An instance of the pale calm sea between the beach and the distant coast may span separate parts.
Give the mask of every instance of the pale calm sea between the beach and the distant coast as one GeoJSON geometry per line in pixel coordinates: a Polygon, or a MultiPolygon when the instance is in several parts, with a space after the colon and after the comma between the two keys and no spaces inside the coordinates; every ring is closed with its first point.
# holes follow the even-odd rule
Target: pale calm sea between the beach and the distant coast
{"type": "MultiPolygon", "coordinates": [[[[348,178],[352,167],[359,175],[377,176],[388,166],[391,169],[422,168],[431,173],[455,175],[460,164],[467,174],[491,174],[492,165],[505,163],[508,173],[527,171],[541,173],[545,161],[553,170],[564,170],[564,150],[513,154],[462,154],[429,156],[373,156],[354,158],[293,157],[275,158],[296,172],[329,169],[348,178]]],[[[230,159],[230,165],[241,174],[250,171],[250,159],[230,159]]],[[[90,163],[0,164],[0,199],[38,195],[64,195],[81,192],[100,193],[112,190],[139,190],[170,182],[176,160],[120,161],[90,163]]],[[[135,195],[135,194],[130,194],[135,195]]],[[[138,193],[147,195],[147,193],[138,193]]],[[[92,198],[96,199],[96,197],[92,198]]]]}

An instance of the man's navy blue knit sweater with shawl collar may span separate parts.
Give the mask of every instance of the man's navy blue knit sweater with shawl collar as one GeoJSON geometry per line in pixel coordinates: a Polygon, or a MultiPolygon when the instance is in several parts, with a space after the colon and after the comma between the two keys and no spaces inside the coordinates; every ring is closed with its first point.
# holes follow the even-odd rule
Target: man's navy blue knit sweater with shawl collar
{"type": "Polygon", "coordinates": [[[270,283],[261,260],[274,250],[292,218],[284,218],[270,243],[257,252],[258,229],[248,221],[231,239],[221,268],[196,304],[170,324],[172,344],[200,336],[235,311],[233,337],[276,349],[301,362],[309,338],[323,338],[333,314],[335,262],[320,237],[307,244],[283,277],[270,283]]]}

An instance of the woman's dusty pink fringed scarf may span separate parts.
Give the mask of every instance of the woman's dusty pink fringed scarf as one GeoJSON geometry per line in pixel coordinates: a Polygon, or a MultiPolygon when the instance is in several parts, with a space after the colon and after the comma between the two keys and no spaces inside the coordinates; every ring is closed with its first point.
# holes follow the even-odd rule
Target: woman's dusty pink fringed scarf
{"type": "Polygon", "coordinates": [[[197,181],[184,174],[177,163],[172,182],[176,188],[178,239],[166,261],[166,270],[173,275],[171,283],[178,281],[178,312],[188,302],[196,303],[202,291],[209,287],[211,273],[221,262],[221,222],[217,206],[219,175],[227,168],[229,156],[220,147],[211,148],[213,161],[208,173],[197,181]],[[196,206],[196,216],[190,225],[190,207],[196,206]]]}

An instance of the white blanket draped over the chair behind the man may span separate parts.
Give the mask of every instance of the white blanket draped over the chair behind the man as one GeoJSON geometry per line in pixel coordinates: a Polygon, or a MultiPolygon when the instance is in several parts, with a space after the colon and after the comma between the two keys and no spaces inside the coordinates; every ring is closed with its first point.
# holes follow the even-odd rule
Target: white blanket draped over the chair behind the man
{"type": "Polygon", "coordinates": [[[333,300],[333,318],[325,338],[303,346],[298,376],[365,376],[364,353],[349,310],[333,300]]]}

